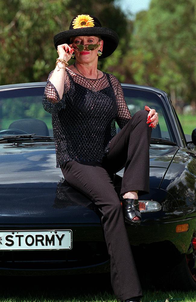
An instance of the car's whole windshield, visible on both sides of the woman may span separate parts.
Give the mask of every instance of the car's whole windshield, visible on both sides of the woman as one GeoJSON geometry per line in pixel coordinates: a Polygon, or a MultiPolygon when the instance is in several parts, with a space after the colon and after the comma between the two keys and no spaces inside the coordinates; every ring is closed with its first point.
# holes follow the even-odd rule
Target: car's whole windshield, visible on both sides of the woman
{"type": "MultiPolygon", "coordinates": [[[[159,124],[152,130],[152,137],[173,142],[169,117],[159,95],[125,87],[123,91],[132,116],[144,110],[145,105],[159,113],[159,124]]],[[[0,137],[27,133],[53,137],[51,114],[42,105],[43,93],[44,87],[0,91],[0,137]]],[[[118,132],[117,124],[116,128],[118,132]]]]}

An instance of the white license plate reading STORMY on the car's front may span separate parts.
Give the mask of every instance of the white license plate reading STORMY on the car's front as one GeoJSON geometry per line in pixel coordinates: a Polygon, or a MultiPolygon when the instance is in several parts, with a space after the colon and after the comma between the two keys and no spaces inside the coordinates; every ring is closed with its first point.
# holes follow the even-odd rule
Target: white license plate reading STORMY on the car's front
{"type": "Polygon", "coordinates": [[[0,251],[71,248],[71,230],[0,231],[0,251]]]}

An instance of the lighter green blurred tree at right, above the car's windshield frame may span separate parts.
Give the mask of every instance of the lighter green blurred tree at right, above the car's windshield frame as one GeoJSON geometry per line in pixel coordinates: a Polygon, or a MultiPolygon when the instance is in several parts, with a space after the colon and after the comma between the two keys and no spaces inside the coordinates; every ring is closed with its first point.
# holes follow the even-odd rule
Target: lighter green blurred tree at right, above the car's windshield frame
{"type": "Polygon", "coordinates": [[[137,84],[170,93],[172,101],[196,104],[196,3],[152,0],[137,15],[125,72],[137,84]]]}

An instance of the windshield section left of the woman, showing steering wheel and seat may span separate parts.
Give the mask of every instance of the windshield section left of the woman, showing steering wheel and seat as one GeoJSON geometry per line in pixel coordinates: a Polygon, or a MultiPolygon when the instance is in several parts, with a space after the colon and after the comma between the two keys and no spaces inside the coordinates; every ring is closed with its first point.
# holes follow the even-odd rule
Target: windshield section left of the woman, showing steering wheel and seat
{"type": "Polygon", "coordinates": [[[53,136],[51,114],[43,109],[44,87],[0,92],[0,137],[36,134],[53,136]]]}

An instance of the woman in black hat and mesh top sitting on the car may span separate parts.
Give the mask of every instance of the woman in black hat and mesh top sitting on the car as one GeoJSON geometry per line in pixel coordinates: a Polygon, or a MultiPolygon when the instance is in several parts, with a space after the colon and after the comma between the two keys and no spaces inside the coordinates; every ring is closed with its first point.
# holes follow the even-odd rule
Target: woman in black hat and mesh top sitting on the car
{"type": "Polygon", "coordinates": [[[86,194],[102,213],[117,299],[142,297],[123,211],[112,174],[125,167],[121,198],[125,221],[139,225],[139,194],[149,192],[149,146],[158,116],[154,109],[131,118],[118,79],[97,69],[113,53],[117,34],[89,15],[78,15],[68,31],[54,37],[58,59],[49,74],[43,106],[52,113],[57,167],[66,181],[86,194]],[[69,67],[68,61],[75,58],[69,67]],[[116,134],[115,121],[122,129],[116,134]]]}

